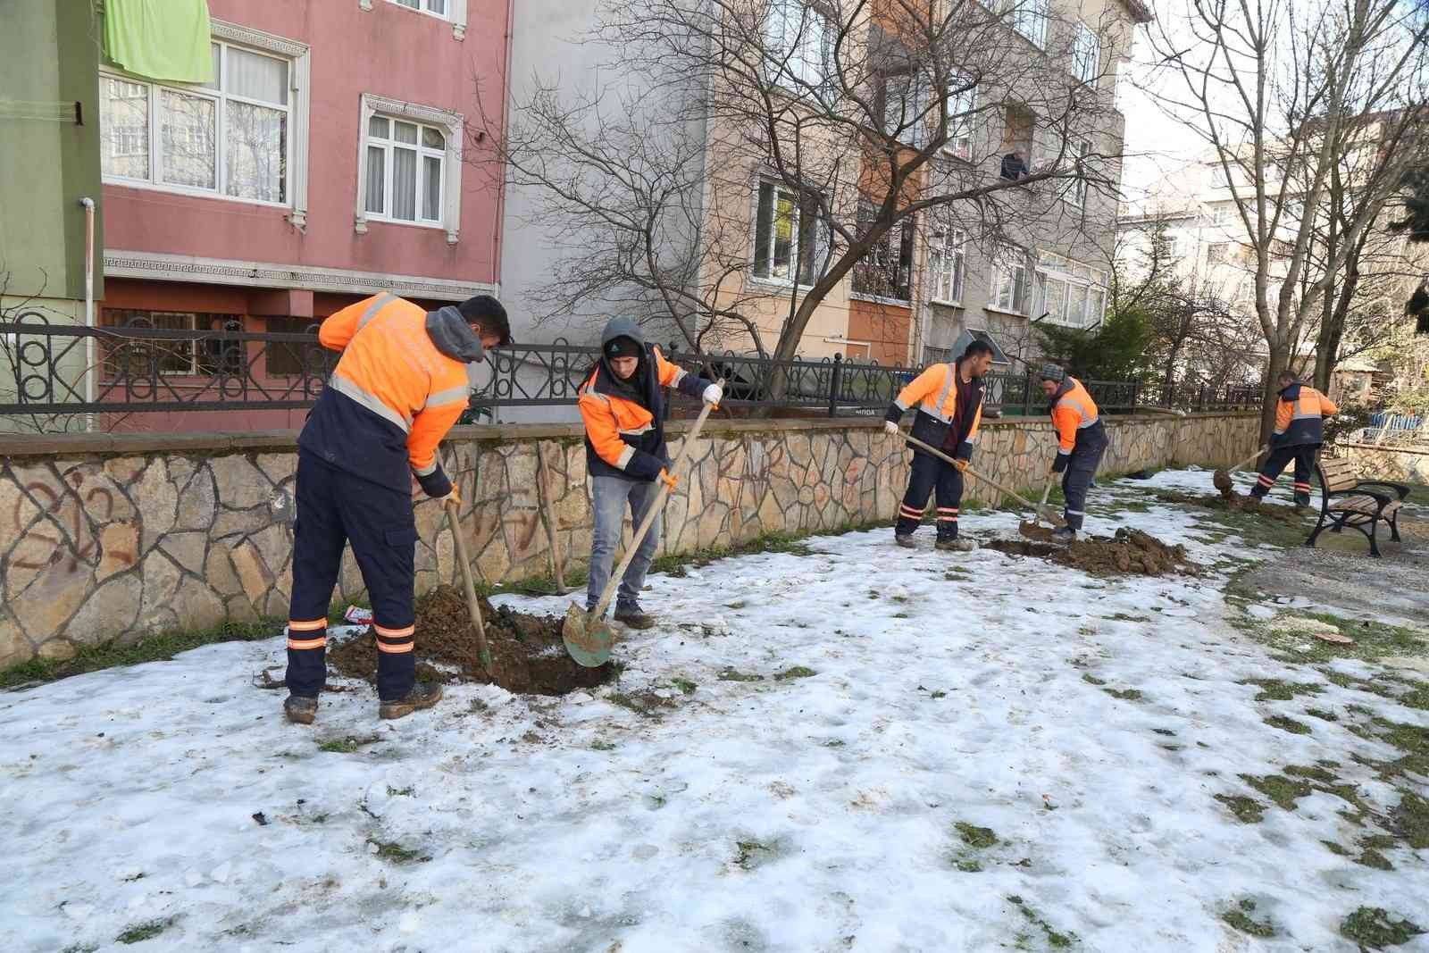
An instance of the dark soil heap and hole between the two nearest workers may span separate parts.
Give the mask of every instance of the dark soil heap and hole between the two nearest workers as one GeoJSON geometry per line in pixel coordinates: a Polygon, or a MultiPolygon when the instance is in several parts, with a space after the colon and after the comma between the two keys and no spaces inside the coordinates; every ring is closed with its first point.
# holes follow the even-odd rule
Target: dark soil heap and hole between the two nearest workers
{"type": "MultiPolygon", "coordinates": [[[[562,619],[527,616],[509,606],[494,609],[486,599],[480,603],[496,677],[487,676],[482,667],[466,597],[452,586],[439,586],[417,600],[419,679],[494,683],[519,694],[566,694],[614,679],[610,663],[583,669],[566,654],[560,640],[562,619]],[[433,663],[442,669],[433,667],[433,663]]],[[[373,682],[377,677],[377,642],[372,630],[330,647],[327,664],[340,674],[373,682]]]]}

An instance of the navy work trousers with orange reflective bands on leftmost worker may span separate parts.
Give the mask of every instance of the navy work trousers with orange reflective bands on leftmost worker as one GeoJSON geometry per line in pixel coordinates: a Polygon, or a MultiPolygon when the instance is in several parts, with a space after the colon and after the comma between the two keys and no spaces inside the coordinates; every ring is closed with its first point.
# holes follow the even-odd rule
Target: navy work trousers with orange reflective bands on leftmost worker
{"type": "Polygon", "coordinates": [[[412,496],[300,451],[287,614],[287,689],[296,696],[317,697],[327,679],[327,607],[349,543],[372,599],[377,697],[392,702],[416,677],[412,496]]]}

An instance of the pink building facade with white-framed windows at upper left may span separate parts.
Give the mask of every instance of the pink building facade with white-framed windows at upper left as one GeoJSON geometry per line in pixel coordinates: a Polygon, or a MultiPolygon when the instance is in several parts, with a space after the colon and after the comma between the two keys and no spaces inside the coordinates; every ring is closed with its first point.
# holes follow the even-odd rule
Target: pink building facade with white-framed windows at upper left
{"type": "MultiPolygon", "coordinates": [[[[302,331],[380,290],[439,306],[499,293],[510,0],[209,0],[214,79],[100,70],[100,323],[302,331]]],[[[293,354],[160,343],[163,386],[293,354]]],[[[121,376],[109,356],[103,374],[121,376]]],[[[187,389],[187,391],[186,391],[187,389]]],[[[233,399],[233,394],[227,394],[233,399]]],[[[133,414],[116,429],[299,426],[302,411],[133,414]]]]}

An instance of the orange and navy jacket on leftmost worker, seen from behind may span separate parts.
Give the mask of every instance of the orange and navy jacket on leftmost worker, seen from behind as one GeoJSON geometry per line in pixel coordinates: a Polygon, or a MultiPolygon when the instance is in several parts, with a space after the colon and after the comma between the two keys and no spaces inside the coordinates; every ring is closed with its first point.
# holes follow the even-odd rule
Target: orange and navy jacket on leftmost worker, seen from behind
{"type": "Polygon", "coordinates": [[[436,450],[467,407],[473,364],[439,350],[427,311],[390,293],[334,313],[317,337],[343,356],[299,446],[393,489],[414,474],[429,494],[449,493],[436,450]]]}

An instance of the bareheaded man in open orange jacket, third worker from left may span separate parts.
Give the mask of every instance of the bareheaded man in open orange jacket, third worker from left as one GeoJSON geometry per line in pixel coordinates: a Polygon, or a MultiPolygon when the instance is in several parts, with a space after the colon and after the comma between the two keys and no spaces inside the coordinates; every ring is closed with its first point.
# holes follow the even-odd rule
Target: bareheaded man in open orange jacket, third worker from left
{"type": "Polygon", "coordinates": [[[963,500],[963,471],[970,466],[977,427],[982,424],[983,376],[992,367],[993,350],[987,341],[972,341],[952,364],[932,364],[899,391],[883,429],[899,433],[899,420],[913,406],[913,436],[956,460],[950,464],[913,447],[907,492],[899,504],[893,542],[913,549],[913,532],[923,520],[927,496],[936,492],[937,536],[935,549],[966,552],[977,544],[957,536],[957,510],[963,500]]]}

